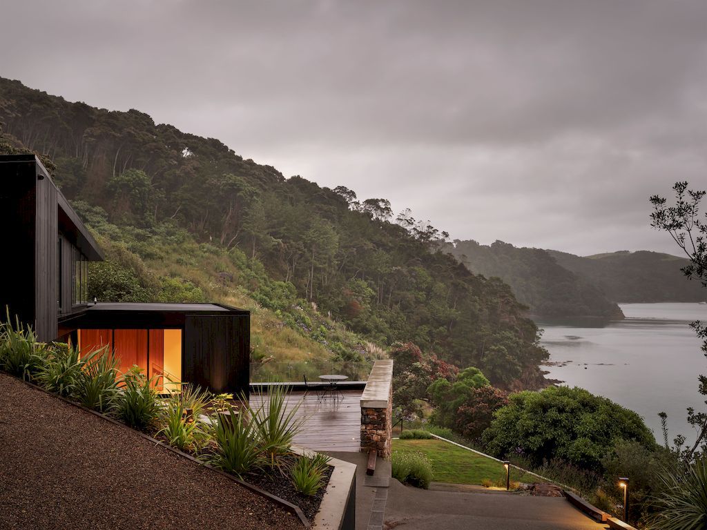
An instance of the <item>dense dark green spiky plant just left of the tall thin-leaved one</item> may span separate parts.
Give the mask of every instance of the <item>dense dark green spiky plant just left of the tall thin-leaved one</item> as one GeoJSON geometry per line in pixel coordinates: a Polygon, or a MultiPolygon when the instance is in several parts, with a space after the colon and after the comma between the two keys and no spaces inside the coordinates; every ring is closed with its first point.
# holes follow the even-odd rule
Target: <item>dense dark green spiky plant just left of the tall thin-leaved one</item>
{"type": "Polygon", "coordinates": [[[228,408],[228,414],[216,415],[214,441],[216,452],[207,461],[221,471],[243,478],[245,473],[262,466],[255,424],[233,408],[228,408]]]}

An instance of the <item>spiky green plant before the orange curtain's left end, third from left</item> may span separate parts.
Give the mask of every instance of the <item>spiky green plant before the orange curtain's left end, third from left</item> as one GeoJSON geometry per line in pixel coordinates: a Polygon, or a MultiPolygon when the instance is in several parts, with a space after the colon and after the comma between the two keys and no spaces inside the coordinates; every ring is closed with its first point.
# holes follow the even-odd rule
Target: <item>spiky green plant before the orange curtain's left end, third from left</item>
{"type": "Polygon", "coordinates": [[[83,359],[71,397],[86,408],[107,412],[118,396],[118,361],[105,346],[83,359]]]}

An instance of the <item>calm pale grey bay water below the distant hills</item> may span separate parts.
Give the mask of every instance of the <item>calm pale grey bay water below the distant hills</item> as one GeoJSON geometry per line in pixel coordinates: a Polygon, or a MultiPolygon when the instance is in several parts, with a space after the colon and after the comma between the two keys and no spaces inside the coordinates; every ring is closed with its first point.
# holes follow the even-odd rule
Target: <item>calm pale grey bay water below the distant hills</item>
{"type": "Polygon", "coordinates": [[[614,322],[538,320],[550,353],[547,377],[636,411],[658,442],[660,411],[667,412],[670,440],[679,432],[694,440],[685,408],[705,407],[697,375],[707,375],[707,359],[689,323],[707,321],[707,305],[621,304],[621,310],[626,319],[614,322]]]}

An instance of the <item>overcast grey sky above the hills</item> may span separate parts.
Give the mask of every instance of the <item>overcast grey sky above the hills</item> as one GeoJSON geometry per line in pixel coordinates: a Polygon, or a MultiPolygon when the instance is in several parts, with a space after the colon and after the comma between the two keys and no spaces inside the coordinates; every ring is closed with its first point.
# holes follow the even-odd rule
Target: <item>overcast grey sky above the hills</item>
{"type": "Polygon", "coordinates": [[[220,139],[452,237],[677,253],[707,187],[707,1],[4,2],[0,76],[220,139]],[[15,4],[15,5],[8,5],[15,4]]]}

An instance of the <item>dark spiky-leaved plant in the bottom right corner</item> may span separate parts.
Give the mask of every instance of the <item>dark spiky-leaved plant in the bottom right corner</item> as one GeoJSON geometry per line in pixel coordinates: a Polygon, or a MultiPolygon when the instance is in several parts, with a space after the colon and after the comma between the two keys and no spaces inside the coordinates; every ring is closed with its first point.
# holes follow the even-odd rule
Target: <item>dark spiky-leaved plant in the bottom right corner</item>
{"type": "Polygon", "coordinates": [[[696,459],[684,474],[660,475],[665,490],[653,500],[656,514],[649,528],[701,530],[707,528],[707,457],[696,459]]]}

